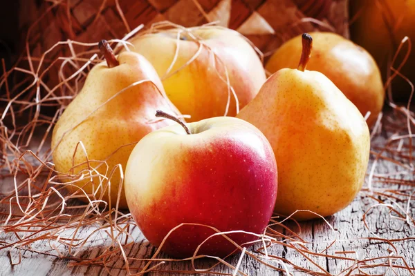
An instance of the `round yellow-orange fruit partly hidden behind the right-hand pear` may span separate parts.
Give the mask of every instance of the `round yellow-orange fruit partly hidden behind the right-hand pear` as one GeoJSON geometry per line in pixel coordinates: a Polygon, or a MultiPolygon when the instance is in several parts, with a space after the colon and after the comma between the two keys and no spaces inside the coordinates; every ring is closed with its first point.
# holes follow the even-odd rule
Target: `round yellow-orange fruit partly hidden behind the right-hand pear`
{"type": "MultiPolygon", "coordinates": [[[[333,32],[311,32],[313,57],[307,69],[321,72],[354,103],[363,116],[371,112],[372,126],[385,100],[382,77],[371,55],[360,46],[333,32]]],[[[266,64],[271,73],[282,68],[297,68],[302,52],[301,35],[282,45],[266,64]]]]}

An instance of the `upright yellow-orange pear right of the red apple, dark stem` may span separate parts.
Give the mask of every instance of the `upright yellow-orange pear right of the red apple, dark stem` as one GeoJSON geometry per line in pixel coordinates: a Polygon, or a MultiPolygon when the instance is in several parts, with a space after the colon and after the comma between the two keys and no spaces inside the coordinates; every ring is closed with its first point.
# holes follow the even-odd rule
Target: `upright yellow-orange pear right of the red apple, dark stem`
{"type": "MultiPolygon", "coordinates": [[[[268,78],[237,117],[257,126],[278,164],[275,212],[311,210],[322,216],[346,207],[362,188],[369,160],[369,128],[358,108],[320,72],[305,70],[312,38],[302,35],[298,69],[268,78]]],[[[296,219],[317,217],[298,212],[296,219]]]]}

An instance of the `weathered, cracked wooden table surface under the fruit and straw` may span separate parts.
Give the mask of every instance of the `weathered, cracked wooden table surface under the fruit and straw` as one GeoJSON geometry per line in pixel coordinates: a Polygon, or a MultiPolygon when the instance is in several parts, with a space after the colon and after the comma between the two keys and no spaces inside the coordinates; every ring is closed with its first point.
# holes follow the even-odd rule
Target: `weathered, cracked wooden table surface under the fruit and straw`
{"type": "MultiPolygon", "coordinates": [[[[382,146],[385,144],[387,138],[392,134],[386,131],[382,131],[377,135],[374,135],[372,139],[372,148],[374,152],[377,152],[376,146],[382,146]]],[[[365,181],[364,188],[356,197],[356,199],[344,210],[339,213],[328,217],[327,221],[334,230],[326,224],[322,219],[315,219],[313,221],[306,221],[300,224],[301,232],[296,228],[293,223],[287,225],[297,229],[297,233],[306,242],[306,247],[315,253],[324,253],[321,256],[311,257],[316,266],[305,255],[300,254],[297,250],[292,250],[287,246],[280,244],[274,244],[268,248],[268,254],[275,255],[288,259],[293,264],[299,267],[307,268],[315,271],[313,275],[357,275],[368,273],[369,275],[410,275],[409,270],[403,270],[402,268],[396,268],[398,266],[408,266],[412,268],[412,273],[415,273],[415,226],[409,220],[397,219],[396,214],[390,212],[388,206],[398,208],[398,206],[409,211],[409,215],[415,217],[415,208],[413,200],[408,198],[405,200],[394,199],[384,195],[390,195],[390,190],[403,190],[405,193],[414,193],[415,186],[406,186],[400,184],[394,184],[393,181],[381,184],[378,181],[374,181],[378,176],[390,175],[394,179],[414,179],[412,168],[404,169],[402,166],[397,166],[391,161],[385,159],[378,159],[376,161],[376,167],[374,169],[374,177],[369,177],[372,165],[376,155],[372,153],[371,161],[369,164],[367,179],[365,181]],[[371,179],[373,182],[368,188],[368,182],[371,179]],[[388,205],[389,204],[389,205],[388,205]],[[365,213],[369,212],[365,215],[365,213]],[[367,226],[365,226],[365,222],[367,226]],[[395,241],[388,242],[387,239],[394,239],[395,241]],[[400,240],[405,239],[405,240],[400,240]],[[334,244],[329,249],[322,252],[327,246],[334,244]],[[349,260],[338,259],[335,257],[326,257],[324,255],[333,255],[339,257],[350,257],[349,260]],[[372,259],[368,262],[356,262],[367,259],[372,259]],[[353,260],[354,259],[354,260],[353,260]],[[406,263],[406,264],[405,264],[406,263]],[[379,264],[376,266],[376,264],[379,264]],[[374,266],[374,268],[367,268],[367,266],[374,266]],[[389,266],[389,267],[388,267],[389,266]],[[324,271],[325,270],[325,271],[324,271]]],[[[4,193],[5,190],[10,190],[10,179],[0,179],[0,191],[4,193]]],[[[405,198],[405,197],[404,197],[405,198]]],[[[7,206],[1,206],[3,214],[8,213],[7,206]]],[[[3,215],[1,219],[6,216],[3,215]]],[[[91,229],[83,228],[80,231],[80,236],[88,235],[91,229]]],[[[3,233],[0,228],[0,241],[13,242],[15,238],[10,233],[3,233]]],[[[151,246],[140,233],[138,228],[132,230],[135,243],[133,246],[126,248],[126,254],[129,257],[149,258],[151,257],[156,248],[151,246]]],[[[105,246],[102,246],[105,242],[106,235],[97,235],[95,242],[91,246],[87,246],[77,257],[83,259],[93,258],[98,256],[105,250],[105,246]]],[[[69,259],[59,259],[51,255],[44,255],[33,252],[33,250],[42,251],[44,253],[55,254],[55,250],[51,248],[54,241],[40,241],[37,244],[33,244],[31,248],[26,249],[13,249],[9,253],[8,249],[0,250],[0,275],[107,275],[108,271],[111,275],[127,275],[125,270],[118,268],[109,268],[106,270],[102,266],[73,266],[73,261],[69,259]],[[12,265],[12,262],[19,261],[19,251],[21,253],[21,261],[19,264],[12,265]],[[10,258],[12,256],[12,258],[10,258]]],[[[248,248],[250,252],[253,252],[255,248],[248,248]]],[[[62,251],[63,255],[67,255],[67,251],[62,251]]],[[[167,257],[160,255],[159,257],[167,257]]],[[[233,266],[237,266],[241,254],[238,253],[227,259],[227,261],[233,266]]],[[[281,262],[277,262],[275,259],[264,259],[268,264],[284,268],[281,262]]],[[[143,266],[145,262],[136,261],[134,266],[143,266]]],[[[202,260],[196,262],[199,268],[204,268],[209,264],[214,264],[212,260],[202,260]]],[[[124,263],[120,258],[119,262],[115,262],[113,266],[123,266],[124,263]]],[[[167,262],[157,268],[158,270],[192,270],[192,264],[190,262],[167,262]]],[[[295,270],[293,266],[286,264],[286,269],[293,275],[304,275],[305,273],[295,270]]],[[[281,272],[273,270],[264,264],[261,264],[257,260],[243,255],[239,270],[247,275],[277,275],[281,272]]],[[[213,269],[214,272],[229,273],[232,275],[234,270],[220,264],[213,269]]],[[[133,273],[139,272],[139,270],[132,271],[133,273]]],[[[146,275],[166,275],[163,272],[147,273],[146,275]]],[[[169,275],[182,275],[183,273],[169,273],[169,275]]],[[[241,274],[238,274],[241,275],[241,274]]]]}

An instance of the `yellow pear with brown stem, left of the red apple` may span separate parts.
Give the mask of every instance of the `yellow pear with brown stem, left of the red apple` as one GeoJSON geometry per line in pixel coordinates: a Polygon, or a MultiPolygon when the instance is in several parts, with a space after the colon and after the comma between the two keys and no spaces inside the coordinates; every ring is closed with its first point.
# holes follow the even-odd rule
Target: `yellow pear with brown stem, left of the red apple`
{"type": "MultiPolygon", "coordinates": [[[[170,110],[176,114],[178,110],[165,96],[156,70],[144,57],[134,52],[122,52],[115,57],[107,41],[101,41],[100,50],[107,63],[104,61],[92,68],[84,87],[64,110],[53,129],[52,149],[57,171],[84,173],[84,180],[66,185],[71,193],[79,191],[77,186],[80,186],[89,195],[103,195],[102,199],[108,202],[109,190],[103,189],[108,184],[107,179],[103,179],[100,186],[99,175],[93,173],[95,177],[91,181],[81,146],[75,152],[78,142],[82,141],[84,145],[89,166],[109,177],[118,164],[125,169],[131,151],[142,137],[174,124],[170,120],[154,121],[156,110],[170,110]],[[107,161],[108,166],[99,161],[107,161]]],[[[119,170],[111,177],[110,184],[111,204],[115,207],[119,170]]],[[[86,197],[80,199],[88,200],[86,197]]],[[[124,190],[120,208],[127,208],[124,190]]]]}

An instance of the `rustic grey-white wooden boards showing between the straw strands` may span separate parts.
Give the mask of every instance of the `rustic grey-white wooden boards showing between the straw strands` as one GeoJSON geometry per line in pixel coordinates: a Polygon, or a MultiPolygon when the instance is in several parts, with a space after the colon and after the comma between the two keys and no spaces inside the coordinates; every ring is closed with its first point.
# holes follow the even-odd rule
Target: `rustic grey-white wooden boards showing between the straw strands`
{"type": "MultiPolygon", "coordinates": [[[[382,145],[385,142],[385,139],[388,137],[386,132],[382,132],[380,135],[377,135],[373,141],[372,145],[382,145]]],[[[373,161],[373,156],[371,157],[373,161]]],[[[371,164],[372,164],[371,161],[371,164]]],[[[369,168],[371,168],[369,164],[369,168]]],[[[379,174],[388,174],[391,172],[396,172],[401,170],[397,166],[394,166],[387,161],[379,161],[379,164],[376,168],[376,173],[379,174]]],[[[369,171],[369,170],[368,170],[369,171]]],[[[401,176],[404,177],[404,176],[401,176]]],[[[406,179],[412,179],[409,176],[405,176],[406,179]]],[[[6,189],[8,186],[6,180],[1,180],[0,188],[6,189]]],[[[10,183],[9,183],[10,184],[10,183]]],[[[365,183],[365,186],[367,183],[365,183]]],[[[382,186],[376,184],[374,188],[382,188],[382,186]]],[[[387,188],[399,188],[399,186],[387,185],[387,188]]],[[[405,187],[408,188],[408,187],[405,187]]],[[[414,189],[414,187],[412,187],[414,189]]],[[[392,219],[389,214],[389,210],[385,207],[375,208],[367,215],[367,222],[369,225],[369,230],[365,228],[362,217],[364,213],[378,202],[374,199],[367,197],[367,192],[361,192],[358,197],[350,204],[346,209],[342,210],[340,213],[337,213],[328,218],[330,224],[335,228],[336,231],[333,231],[327,226],[322,219],[317,219],[313,221],[304,222],[301,224],[302,233],[300,236],[308,242],[313,242],[309,245],[309,248],[315,252],[320,252],[326,246],[329,245],[329,242],[337,239],[337,242],[327,250],[326,253],[336,255],[336,251],[353,251],[354,253],[349,253],[353,255],[352,257],[358,256],[358,259],[368,259],[369,257],[385,257],[391,253],[391,245],[386,242],[381,241],[369,241],[369,239],[360,239],[362,237],[385,237],[387,239],[400,239],[405,237],[412,237],[412,240],[406,242],[394,242],[394,246],[398,250],[398,255],[401,255],[407,264],[411,267],[415,266],[415,228],[405,223],[405,221],[392,219]]],[[[378,197],[378,196],[376,196],[378,197]]],[[[410,211],[414,214],[414,204],[410,206],[410,211]]],[[[3,209],[3,211],[6,211],[3,209]]],[[[1,218],[3,219],[3,218],[1,218]]],[[[87,229],[84,230],[87,232],[87,229]]],[[[151,257],[155,252],[155,248],[145,240],[138,228],[133,230],[136,243],[127,250],[127,255],[129,257],[136,258],[145,258],[151,257]]],[[[5,240],[5,235],[0,233],[0,241],[9,242],[5,240]]],[[[7,236],[9,238],[9,236],[7,236]]],[[[102,241],[97,241],[93,246],[87,248],[81,253],[81,257],[95,257],[102,250],[103,246],[100,246],[102,241]]],[[[48,242],[41,242],[36,246],[33,246],[33,249],[43,250],[45,252],[54,253],[48,244],[48,242]]],[[[252,248],[251,248],[252,249],[252,248]]],[[[15,252],[15,251],[12,251],[15,252]]],[[[277,255],[280,257],[286,257],[290,259],[293,263],[309,268],[314,271],[319,271],[310,262],[306,262],[306,259],[299,255],[299,253],[294,250],[287,250],[283,246],[274,246],[269,250],[270,254],[277,255]]],[[[339,255],[337,253],[337,255],[339,255]]],[[[344,254],[342,256],[345,256],[344,254]]],[[[18,255],[14,256],[15,260],[18,259],[18,255]]],[[[236,265],[239,259],[239,254],[234,255],[229,259],[230,264],[236,265]]],[[[322,266],[327,272],[331,275],[346,275],[347,272],[343,270],[351,266],[351,261],[344,261],[339,259],[331,259],[326,257],[315,257],[313,258],[317,264],[322,266]]],[[[371,262],[374,263],[385,263],[386,259],[377,259],[371,262]]],[[[210,261],[201,261],[196,262],[199,267],[203,268],[208,264],[212,264],[210,261]]],[[[277,263],[273,263],[278,266],[277,263]]],[[[401,260],[394,261],[394,264],[403,264],[401,260]]],[[[10,256],[8,250],[0,250],[0,275],[107,275],[107,271],[100,266],[70,266],[71,261],[67,259],[59,259],[56,257],[50,257],[48,255],[40,255],[33,253],[30,250],[21,250],[21,263],[17,265],[12,265],[10,261],[10,256]],[[69,265],[69,266],[68,266],[69,265]]],[[[122,260],[116,263],[115,266],[122,266],[122,260]]],[[[142,263],[138,262],[137,266],[142,266],[142,263]]],[[[232,275],[232,269],[226,266],[217,266],[215,271],[221,273],[230,273],[232,275]]],[[[178,262],[178,263],[169,263],[165,266],[161,266],[160,269],[163,270],[191,270],[192,266],[190,262],[178,262]]],[[[275,275],[278,274],[275,270],[268,268],[262,264],[259,264],[254,259],[250,257],[243,257],[243,262],[240,267],[243,273],[248,275],[275,275]]],[[[363,272],[368,273],[369,275],[409,275],[408,272],[403,270],[396,270],[397,274],[385,267],[378,267],[373,269],[362,269],[363,272]]],[[[415,270],[412,271],[415,273],[415,270]]],[[[323,271],[320,270],[320,273],[323,271]]],[[[358,274],[358,270],[353,271],[351,275],[358,274]]],[[[111,275],[127,275],[126,271],[112,269],[111,275]]],[[[165,275],[164,273],[149,273],[148,275],[165,275]]],[[[170,273],[169,275],[181,275],[180,273],[170,273]]],[[[302,273],[295,272],[293,275],[302,275],[302,273]]],[[[324,273],[323,273],[324,275],[324,273]]]]}

